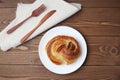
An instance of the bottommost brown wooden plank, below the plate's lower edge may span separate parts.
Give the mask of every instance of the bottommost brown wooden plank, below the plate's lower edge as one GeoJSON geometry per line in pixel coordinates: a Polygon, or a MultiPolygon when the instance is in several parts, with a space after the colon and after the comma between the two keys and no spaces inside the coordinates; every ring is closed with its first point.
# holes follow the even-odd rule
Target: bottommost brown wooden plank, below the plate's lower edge
{"type": "Polygon", "coordinates": [[[31,80],[32,76],[34,76],[32,80],[118,80],[120,78],[119,66],[83,66],[75,73],[69,75],[53,74],[43,66],[0,65],[0,68],[1,79],[10,77],[9,79],[22,78],[23,80],[31,80]]]}

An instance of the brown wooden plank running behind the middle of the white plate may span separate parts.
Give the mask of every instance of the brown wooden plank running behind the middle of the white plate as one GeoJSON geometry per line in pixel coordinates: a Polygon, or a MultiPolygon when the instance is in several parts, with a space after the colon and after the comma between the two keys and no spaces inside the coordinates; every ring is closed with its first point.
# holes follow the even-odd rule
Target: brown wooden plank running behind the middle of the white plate
{"type": "MultiPolygon", "coordinates": [[[[0,53],[0,64],[41,65],[38,56],[38,38],[11,51],[3,52],[4,54],[0,53]]],[[[120,37],[114,37],[115,42],[112,41],[112,38],[97,37],[96,39],[96,37],[86,37],[88,57],[85,65],[120,65],[120,37]]]]}

